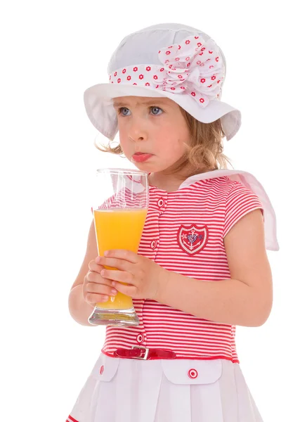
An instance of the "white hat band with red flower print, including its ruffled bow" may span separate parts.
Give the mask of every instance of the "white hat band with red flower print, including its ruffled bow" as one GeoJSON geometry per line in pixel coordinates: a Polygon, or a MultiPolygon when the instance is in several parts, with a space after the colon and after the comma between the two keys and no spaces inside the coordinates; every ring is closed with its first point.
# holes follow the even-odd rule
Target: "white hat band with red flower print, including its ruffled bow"
{"type": "Polygon", "coordinates": [[[150,87],[173,94],[188,94],[202,108],[220,99],[225,66],[213,39],[192,35],[181,44],[161,49],[162,65],[129,65],[110,74],[111,84],[150,87]]]}

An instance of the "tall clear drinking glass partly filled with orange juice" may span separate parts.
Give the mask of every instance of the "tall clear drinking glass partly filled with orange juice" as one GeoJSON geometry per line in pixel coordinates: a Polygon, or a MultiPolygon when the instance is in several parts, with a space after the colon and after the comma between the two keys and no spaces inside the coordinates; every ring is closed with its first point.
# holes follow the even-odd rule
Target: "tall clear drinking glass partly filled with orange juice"
{"type": "MultiPolygon", "coordinates": [[[[103,256],[105,250],[110,249],[128,249],[137,253],[148,212],[148,173],[98,169],[94,185],[93,219],[98,255],[103,256]]],[[[89,323],[138,326],[139,321],[132,298],[118,292],[107,302],[96,303],[89,323]]]]}

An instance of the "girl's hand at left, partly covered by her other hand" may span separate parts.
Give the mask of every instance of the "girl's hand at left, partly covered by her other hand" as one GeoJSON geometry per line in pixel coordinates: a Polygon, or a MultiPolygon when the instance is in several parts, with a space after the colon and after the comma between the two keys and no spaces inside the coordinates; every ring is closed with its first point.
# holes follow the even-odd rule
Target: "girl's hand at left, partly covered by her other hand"
{"type": "Polygon", "coordinates": [[[104,279],[100,271],[105,269],[95,260],[89,262],[89,271],[84,277],[83,297],[86,303],[95,306],[98,302],[107,302],[110,296],[117,295],[117,290],[111,286],[112,280],[104,279]]]}

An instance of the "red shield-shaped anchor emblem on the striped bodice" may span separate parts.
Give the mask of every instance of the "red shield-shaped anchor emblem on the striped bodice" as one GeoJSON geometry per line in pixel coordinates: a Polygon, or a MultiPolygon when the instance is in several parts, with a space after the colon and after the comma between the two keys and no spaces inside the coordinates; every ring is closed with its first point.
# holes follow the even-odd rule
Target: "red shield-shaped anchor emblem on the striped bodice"
{"type": "Polygon", "coordinates": [[[204,226],[197,226],[197,224],[184,226],[181,224],[177,234],[177,241],[184,252],[189,255],[195,255],[207,245],[208,228],[206,224],[204,226]]]}

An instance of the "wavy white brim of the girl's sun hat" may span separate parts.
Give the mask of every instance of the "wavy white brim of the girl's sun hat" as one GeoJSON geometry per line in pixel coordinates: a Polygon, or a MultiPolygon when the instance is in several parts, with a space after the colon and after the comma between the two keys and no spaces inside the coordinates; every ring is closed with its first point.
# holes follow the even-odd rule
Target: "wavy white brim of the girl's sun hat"
{"type": "Polygon", "coordinates": [[[211,100],[207,107],[200,108],[194,98],[185,94],[174,94],[169,91],[157,91],[151,87],[136,87],[128,84],[93,85],[84,92],[86,113],[93,126],[111,141],[118,131],[113,98],[119,96],[166,97],[175,101],[178,106],[200,122],[211,123],[221,118],[223,131],[228,141],[240,129],[240,110],[219,100],[211,100]]]}

